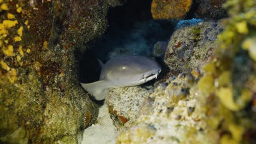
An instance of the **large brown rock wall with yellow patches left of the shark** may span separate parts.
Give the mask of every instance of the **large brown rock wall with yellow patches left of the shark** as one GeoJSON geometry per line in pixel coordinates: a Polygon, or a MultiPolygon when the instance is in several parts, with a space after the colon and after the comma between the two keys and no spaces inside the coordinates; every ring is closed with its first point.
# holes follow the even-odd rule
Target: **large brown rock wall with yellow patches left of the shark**
{"type": "Polygon", "coordinates": [[[0,142],[79,142],[97,109],[75,51],[104,32],[105,1],[0,2],[0,142]]]}

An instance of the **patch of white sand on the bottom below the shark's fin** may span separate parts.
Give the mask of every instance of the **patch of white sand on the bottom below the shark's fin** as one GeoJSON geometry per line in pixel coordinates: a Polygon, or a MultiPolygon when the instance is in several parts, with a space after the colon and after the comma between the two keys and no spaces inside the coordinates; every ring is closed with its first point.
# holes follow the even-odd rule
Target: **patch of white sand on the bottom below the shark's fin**
{"type": "Polygon", "coordinates": [[[82,144],[116,143],[120,131],[116,131],[106,104],[100,107],[97,124],[84,130],[82,144]]]}

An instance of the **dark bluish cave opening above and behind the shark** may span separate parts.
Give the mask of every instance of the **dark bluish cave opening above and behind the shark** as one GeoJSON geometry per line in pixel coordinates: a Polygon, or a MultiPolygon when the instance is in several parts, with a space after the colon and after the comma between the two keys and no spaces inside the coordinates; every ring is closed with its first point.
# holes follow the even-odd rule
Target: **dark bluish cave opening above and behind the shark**
{"type": "MultiPolygon", "coordinates": [[[[154,20],[150,12],[152,0],[130,0],[108,11],[106,32],[90,44],[80,60],[80,81],[90,83],[100,76],[97,58],[106,63],[117,55],[153,57],[154,45],[168,41],[174,24],[167,20],[154,20]]],[[[161,64],[161,58],[157,59],[161,64]]],[[[152,85],[152,82],[149,82],[152,85]]]]}

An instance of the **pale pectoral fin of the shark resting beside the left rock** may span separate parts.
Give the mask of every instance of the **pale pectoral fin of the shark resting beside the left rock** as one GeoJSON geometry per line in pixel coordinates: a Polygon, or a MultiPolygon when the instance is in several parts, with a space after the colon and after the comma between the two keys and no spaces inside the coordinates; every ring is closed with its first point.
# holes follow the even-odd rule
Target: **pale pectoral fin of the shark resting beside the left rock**
{"type": "Polygon", "coordinates": [[[109,83],[104,80],[92,82],[92,83],[80,83],[83,88],[93,95],[95,100],[103,100],[106,98],[109,92],[109,83]]]}

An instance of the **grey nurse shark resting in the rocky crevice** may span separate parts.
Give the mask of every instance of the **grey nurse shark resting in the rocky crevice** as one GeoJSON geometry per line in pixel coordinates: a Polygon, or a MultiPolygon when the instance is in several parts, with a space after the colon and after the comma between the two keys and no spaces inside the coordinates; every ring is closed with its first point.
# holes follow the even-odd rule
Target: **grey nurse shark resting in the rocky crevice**
{"type": "Polygon", "coordinates": [[[92,99],[103,100],[112,88],[137,86],[156,79],[161,72],[160,65],[154,58],[136,55],[119,55],[101,65],[98,81],[80,83],[92,94],[92,99]]]}

